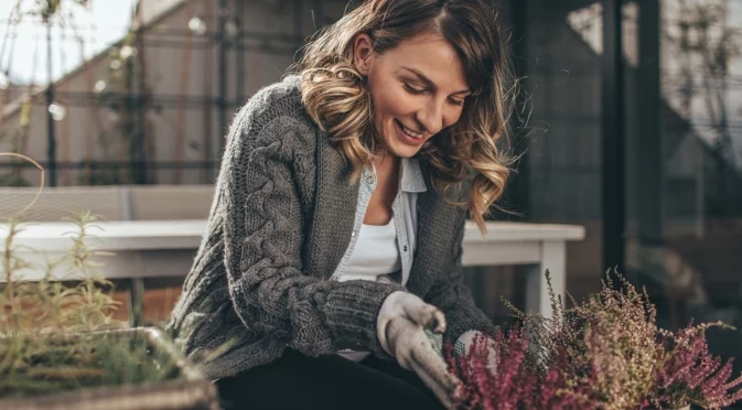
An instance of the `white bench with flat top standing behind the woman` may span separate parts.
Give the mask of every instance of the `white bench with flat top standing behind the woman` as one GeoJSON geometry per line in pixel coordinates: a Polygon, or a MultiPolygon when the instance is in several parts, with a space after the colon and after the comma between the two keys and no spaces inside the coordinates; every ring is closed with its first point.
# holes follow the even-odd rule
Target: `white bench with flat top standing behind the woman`
{"type": "MultiPolygon", "coordinates": [[[[206,222],[198,220],[131,220],[106,222],[90,227],[87,239],[97,250],[115,252],[98,256],[108,279],[132,281],[131,300],[136,316],[141,321],[143,279],[183,277],[190,270],[201,244],[206,222]],[[137,309],[138,308],[138,309],[137,309]]],[[[37,266],[46,258],[56,258],[68,251],[75,226],[69,223],[26,224],[14,240],[18,256],[37,266]],[[35,251],[25,248],[33,248],[35,251]]],[[[0,225],[0,244],[4,247],[8,227],[0,225]]],[[[563,298],[567,276],[566,242],[584,238],[584,228],[573,225],[523,223],[487,223],[487,236],[482,237],[473,223],[464,234],[464,266],[535,265],[528,273],[526,310],[551,315],[544,272],[551,273],[551,285],[563,298]]],[[[62,268],[54,271],[58,279],[75,279],[62,268]]],[[[42,270],[24,271],[26,280],[40,280],[42,270]]],[[[3,281],[0,278],[0,281],[3,281]]],[[[141,323],[141,322],[139,322],[141,323]]],[[[137,323],[137,324],[139,324],[137,323]]]]}

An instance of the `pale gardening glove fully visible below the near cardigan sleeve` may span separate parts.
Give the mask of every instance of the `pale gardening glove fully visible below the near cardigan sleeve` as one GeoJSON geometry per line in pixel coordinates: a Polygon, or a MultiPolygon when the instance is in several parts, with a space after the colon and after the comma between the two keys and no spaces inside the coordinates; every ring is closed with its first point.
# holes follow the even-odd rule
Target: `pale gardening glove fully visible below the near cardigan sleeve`
{"type": "Polygon", "coordinates": [[[426,328],[445,332],[443,312],[408,292],[397,291],[384,300],[376,323],[381,348],[399,366],[415,371],[441,403],[452,409],[451,397],[459,392],[460,381],[430,345],[426,328]]]}

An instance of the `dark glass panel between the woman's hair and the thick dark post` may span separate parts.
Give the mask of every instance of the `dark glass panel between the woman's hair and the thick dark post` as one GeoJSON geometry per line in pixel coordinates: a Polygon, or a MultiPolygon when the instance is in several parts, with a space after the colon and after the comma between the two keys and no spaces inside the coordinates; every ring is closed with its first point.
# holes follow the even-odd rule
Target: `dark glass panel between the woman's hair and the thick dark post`
{"type": "MultiPolygon", "coordinates": [[[[514,2],[519,4],[520,2],[514,2]]],[[[518,6],[516,6],[518,7],[518,6]]],[[[528,126],[528,203],[536,223],[587,229],[568,245],[567,290],[578,299],[599,289],[601,263],[602,15],[592,1],[529,0],[523,67],[528,126]]],[[[519,39],[516,39],[519,40],[519,39]]]]}

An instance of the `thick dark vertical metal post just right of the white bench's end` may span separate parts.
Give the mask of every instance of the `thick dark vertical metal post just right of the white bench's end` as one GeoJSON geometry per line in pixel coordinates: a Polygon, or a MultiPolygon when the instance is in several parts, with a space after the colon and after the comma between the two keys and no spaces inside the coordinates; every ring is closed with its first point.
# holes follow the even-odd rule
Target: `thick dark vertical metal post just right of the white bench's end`
{"type": "Polygon", "coordinates": [[[621,0],[603,0],[603,268],[625,272],[624,67],[621,0]]]}

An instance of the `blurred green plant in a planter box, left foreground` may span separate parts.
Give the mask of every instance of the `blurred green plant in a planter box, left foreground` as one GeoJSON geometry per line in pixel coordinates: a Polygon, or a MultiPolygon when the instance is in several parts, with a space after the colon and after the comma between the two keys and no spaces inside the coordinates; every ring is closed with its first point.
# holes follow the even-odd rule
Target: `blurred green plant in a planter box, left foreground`
{"type": "Polygon", "coordinates": [[[127,327],[111,319],[112,284],[92,260],[86,244],[96,217],[71,220],[77,231],[68,255],[51,261],[45,277],[24,281],[28,269],[42,269],[17,257],[13,238],[20,220],[7,224],[0,250],[0,408],[55,409],[218,409],[216,389],[164,332],[127,327]],[[67,268],[72,284],[52,277],[67,268]]]}

